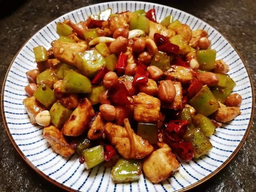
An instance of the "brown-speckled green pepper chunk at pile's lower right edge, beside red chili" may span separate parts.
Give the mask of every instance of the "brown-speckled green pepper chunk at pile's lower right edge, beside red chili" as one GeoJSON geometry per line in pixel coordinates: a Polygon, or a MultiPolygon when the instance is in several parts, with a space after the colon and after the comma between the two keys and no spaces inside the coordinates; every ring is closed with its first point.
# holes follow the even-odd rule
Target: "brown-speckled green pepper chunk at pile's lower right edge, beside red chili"
{"type": "Polygon", "coordinates": [[[194,157],[198,159],[200,156],[206,154],[212,149],[212,143],[204,136],[204,133],[199,129],[192,130],[183,136],[183,139],[187,142],[191,142],[193,145],[194,157]]]}

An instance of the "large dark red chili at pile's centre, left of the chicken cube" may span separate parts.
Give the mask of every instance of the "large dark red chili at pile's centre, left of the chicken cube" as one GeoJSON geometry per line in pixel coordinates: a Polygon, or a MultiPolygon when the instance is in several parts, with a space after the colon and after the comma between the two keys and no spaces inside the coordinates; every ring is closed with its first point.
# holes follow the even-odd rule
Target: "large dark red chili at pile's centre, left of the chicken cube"
{"type": "Polygon", "coordinates": [[[108,94],[110,100],[118,105],[132,105],[133,98],[129,91],[126,89],[124,83],[117,81],[115,84],[112,84],[108,89],[108,94]],[[127,98],[131,98],[132,102],[127,98]]]}

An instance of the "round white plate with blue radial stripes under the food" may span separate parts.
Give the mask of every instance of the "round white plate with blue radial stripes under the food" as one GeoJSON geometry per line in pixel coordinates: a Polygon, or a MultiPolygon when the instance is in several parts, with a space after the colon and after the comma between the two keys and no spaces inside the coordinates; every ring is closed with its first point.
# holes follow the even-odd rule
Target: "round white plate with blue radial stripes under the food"
{"type": "Polygon", "coordinates": [[[20,49],[15,56],[5,78],[2,92],[2,112],[9,137],[24,160],[45,179],[69,191],[183,191],[202,183],[220,171],[241,148],[252,123],[254,98],[252,81],[244,62],[235,48],[216,29],[204,21],[177,9],[160,4],[145,2],[109,2],[90,5],[69,12],[52,21],[20,49]],[[174,177],[160,184],[153,184],[141,175],[133,183],[114,184],[110,178],[110,168],[103,164],[91,170],[84,170],[77,156],[63,158],[52,152],[50,145],[43,139],[42,126],[30,124],[28,114],[22,104],[26,98],[24,87],[28,84],[25,73],[36,68],[33,47],[43,45],[50,48],[50,43],[58,38],[56,23],[65,19],[73,22],[86,20],[91,14],[98,14],[108,7],[113,12],[135,11],[155,8],[157,20],[172,14],[195,29],[204,29],[209,33],[212,49],[217,51],[217,59],[223,59],[230,68],[229,75],[236,81],[233,92],[243,97],[242,114],[232,122],[223,124],[211,136],[213,149],[200,159],[181,162],[180,170],[174,177]]]}

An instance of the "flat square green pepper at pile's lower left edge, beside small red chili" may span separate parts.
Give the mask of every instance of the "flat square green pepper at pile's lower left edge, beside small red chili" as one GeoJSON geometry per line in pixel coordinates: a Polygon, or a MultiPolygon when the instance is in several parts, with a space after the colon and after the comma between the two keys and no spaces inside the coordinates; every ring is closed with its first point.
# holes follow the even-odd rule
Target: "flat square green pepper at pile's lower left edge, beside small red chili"
{"type": "Polygon", "coordinates": [[[98,145],[96,147],[86,149],[83,152],[83,156],[85,169],[91,169],[92,167],[104,162],[103,146],[98,145]]]}

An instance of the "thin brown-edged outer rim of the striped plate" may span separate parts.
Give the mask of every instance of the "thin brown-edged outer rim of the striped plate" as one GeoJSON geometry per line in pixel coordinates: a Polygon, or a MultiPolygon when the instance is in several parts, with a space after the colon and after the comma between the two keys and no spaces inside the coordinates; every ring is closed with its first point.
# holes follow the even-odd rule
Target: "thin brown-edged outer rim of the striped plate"
{"type": "MultiPolygon", "coordinates": [[[[72,10],[70,12],[67,12],[63,15],[61,15],[60,17],[56,18],[56,19],[59,19],[67,14],[70,14],[72,12],[76,12],[77,10],[80,10],[82,8],[86,8],[86,7],[90,7],[90,6],[95,6],[95,5],[101,5],[101,4],[108,4],[108,3],[123,3],[123,2],[126,2],[126,3],[144,3],[144,4],[153,4],[153,5],[161,5],[161,6],[164,6],[166,8],[172,8],[172,9],[176,9],[176,8],[173,8],[173,7],[170,7],[170,6],[167,6],[167,5],[163,5],[163,4],[157,4],[157,3],[151,3],[151,2],[144,2],[144,1],[111,1],[111,2],[103,2],[103,3],[98,3],[98,4],[91,4],[91,5],[87,5],[87,6],[83,6],[83,7],[80,7],[78,9],[75,9],[75,10],[72,10]]],[[[180,9],[176,9],[180,12],[183,12],[183,13],[186,13],[190,16],[193,16],[195,17],[196,19],[198,20],[201,20],[203,22],[205,22],[204,20],[188,13],[188,12],[185,12],[185,11],[182,11],[180,9]]],[[[56,20],[54,19],[54,20],[56,20]]],[[[52,21],[54,21],[52,20],[52,21]]],[[[42,28],[44,28],[45,26],[47,26],[48,24],[50,24],[52,21],[50,21],[49,23],[47,23],[46,25],[44,25],[42,28]]],[[[210,24],[208,24],[207,22],[205,22],[207,25],[211,26],[210,24]]],[[[22,48],[25,46],[25,44],[28,43],[28,41],[34,36],[36,35],[42,28],[40,28],[38,31],[36,31],[32,36],[30,36],[28,38],[28,40],[21,46],[21,48],[19,49],[19,51],[15,54],[15,56],[13,57],[12,61],[11,61],[11,64],[10,66],[8,67],[7,71],[6,71],[6,74],[5,74],[5,77],[4,77],[4,83],[3,83],[3,86],[2,86],[2,91],[1,91],[1,113],[2,113],[2,118],[3,118],[3,123],[4,123],[4,127],[5,127],[5,130],[6,130],[6,133],[9,137],[9,139],[11,140],[11,143],[12,145],[14,146],[14,148],[16,149],[16,151],[19,153],[19,155],[21,156],[21,158],[29,165],[30,168],[32,168],[37,174],[39,174],[40,176],[42,176],[46,181],[49,181],[50,183],[52,183],[53,185],[61,188],[61,189],[65,189],[69,192],[74,192],[76,191],[75,189],[73,188],[70,188],[68,186],[65,186],[59,182],[57,182],[56,180],[50,178],[49,176],[47,176],[44,172],[40,171],[38,168],[36,168],[36,166],[31,162],[29,161],[29,159],[22,153],[22,151],[20,150],[20,148],[18,147],[18,145],[16,144],[15,140],[13,139],[11,133],[10,133],[10,130],[9,130],[9,127],[7,125],[7,122],[6,122],[6,118],[5,118],[5,113],[4,113],[4,87],[5,87],[5,84],[6,84],[6,78],[7,78],[7,75],[9,74],[10,72],[10,68],[12,67],[12,64],[13,64],[13,61],[15,60],[15,58],[17,57],[17,55],[19,54],[19,52],[22,50],[22,48]]],[[[250,80],[250,85],[251,85],[251,91],[252,91],[252,113],[251,113],[251,116],[250,116],[250,120],[249,120],[249,123],[248,123],[248,126],[246,128],[246,131],[244,133],[244,136],[242,138],[242,140],[240,141],[240,143],[238,144],[238,146],[236,147],[236,149],[233,151],[233,153],[228,157],[228,159],[223,163],[221,164],[215,171],[211,172],[209,175],[207,175],[206,177],[204,177],[203,179],[187,186],[186,188],[183,188],[183,189],[179,189],[179,190],[176,190],[175,192],[183,192],[183,191],[188,191],[189,189],[192,189],[192,188],[195,188],[196,186],[204,183],[205,181],[209,180],[210,178],[212,178],[214,175],[216,175],[218,172],[220,172],[237,154],[237,152],[241,149],[241,147],[243,146],[244,144],[244,141],[246,140],[250,130],[251,130],[251,127],[252,127],[252,121],[253,121],[253,116],[254,116],[254,110],[255,110],[255,107],[254,107],[254,104],[255,104],[255,96],[254,96],[254,86],[253,86],[253,82],[252,82],[252,77],[251,77],[251,74],[249,72],[249,69],[248,67],[246,66],[245,64],[245,61],[244,61],[244,58],[242,57],[242,55],[240,54],[240,52],[238,52],[238,50],[236,49],[236,47],[226,38],[226,36],[224,36],[222,33],[220,33],[216,28],[212,27],[214,30],[216,30],[221,36],[223,36],[227,41],[228,43],[234,48],[234,50],[236,51],[236,53],[238,54],[238,56],[240,57],[240,59],[242,60],[243,64],[244,64],[244,67],[246,69],[246,72],[248,74],[248,77],[249,77],[249,80],[250,80]]]]}

